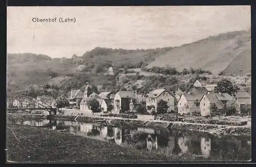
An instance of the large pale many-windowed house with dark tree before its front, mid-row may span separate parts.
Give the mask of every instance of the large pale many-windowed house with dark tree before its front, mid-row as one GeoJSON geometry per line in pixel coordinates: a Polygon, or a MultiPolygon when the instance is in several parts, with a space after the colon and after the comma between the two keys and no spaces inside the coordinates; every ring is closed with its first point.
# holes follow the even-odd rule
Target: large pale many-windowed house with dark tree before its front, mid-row
{"type": "Polygon", "coordinates": [[[154,107],[157,112],[157,105],[160,100],[166,101],[168,110],[175,110],[175,96],[166,89],[155,89],[146,95],[146,107],[154,107]]]}

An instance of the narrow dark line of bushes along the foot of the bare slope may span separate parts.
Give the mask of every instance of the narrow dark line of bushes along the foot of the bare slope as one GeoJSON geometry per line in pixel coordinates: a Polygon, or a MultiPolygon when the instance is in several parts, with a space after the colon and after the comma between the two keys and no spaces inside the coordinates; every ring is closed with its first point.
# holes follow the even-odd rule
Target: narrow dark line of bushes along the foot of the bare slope
{"type": "Polygon", "coordinates": [[[182,71],[178,71],[176,68],[172,68],[170,66],[165,66],[165,67],[157,67],[154,66],[152,68],[142,68],[142,70],[151,72],[151,73],[157,73],[157,74],[164,74],[164,75],[176,75],[176,74],[182,74],[182,75],[187,75],[187,74],[212,74],[209,70],[204,70],[202,68],[192,68],[186,69],[184,68],[182,71]]]}

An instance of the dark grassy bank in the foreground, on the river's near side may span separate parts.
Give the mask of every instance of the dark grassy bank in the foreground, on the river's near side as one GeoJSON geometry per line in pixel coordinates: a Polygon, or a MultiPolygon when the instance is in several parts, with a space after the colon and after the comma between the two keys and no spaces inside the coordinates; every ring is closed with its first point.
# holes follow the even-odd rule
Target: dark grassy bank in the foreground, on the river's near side
{"type": "Polygon", "coordinates": [[[7,157],[26,162],[167,161],[164,156],[31,126],[8,125],[7,157]]]}

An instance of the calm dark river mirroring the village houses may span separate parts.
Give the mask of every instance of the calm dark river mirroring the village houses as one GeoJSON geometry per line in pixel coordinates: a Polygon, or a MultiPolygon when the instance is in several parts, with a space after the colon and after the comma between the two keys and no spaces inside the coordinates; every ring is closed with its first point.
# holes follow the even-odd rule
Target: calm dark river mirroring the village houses
{"type": "Polygon", "coordinates": [[[78,123],[38,118],[8,119],[12,124],[49,128],[83,137],[112,142],[121,147],[155,152],[165,156],[193,155],[211,161],[248,161],[251,139],[222,137],[190,131],[172,131],[144,127],[107,126],[101,123],[78,123]]]}

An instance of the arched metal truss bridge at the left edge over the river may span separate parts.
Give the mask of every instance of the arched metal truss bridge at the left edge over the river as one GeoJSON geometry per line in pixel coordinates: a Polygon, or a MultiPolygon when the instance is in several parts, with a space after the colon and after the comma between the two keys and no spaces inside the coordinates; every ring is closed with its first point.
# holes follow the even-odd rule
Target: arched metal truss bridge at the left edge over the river
{"type": "Polygon", "coordinates": [[[18,110],[45,110],[50,114],[56,114],[58,110],[57,108],[38,99],[15,93],[7,94],[6,107],[7,112],[18,110]]]}

